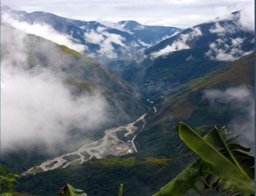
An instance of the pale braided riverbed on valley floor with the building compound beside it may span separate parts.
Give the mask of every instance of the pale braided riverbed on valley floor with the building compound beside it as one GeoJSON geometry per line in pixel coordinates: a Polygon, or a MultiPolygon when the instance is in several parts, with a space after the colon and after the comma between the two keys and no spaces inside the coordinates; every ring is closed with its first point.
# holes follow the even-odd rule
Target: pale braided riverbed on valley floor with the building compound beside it
{"type": "Polygon", "coordinates": [[[75,152],[67,153],[56,158],[51,158],[50,160],[40,164],[39,166],[32,167],[28,171],[23,172],[22,175],[26,175],[28,173],[49,171],[58,167],[66,168],[68,165],[83,163],[84,161],[86,162],[92,157],[102,159],[106,155],[122,156],[128,153],[138,152],[133,142],[136,135],[132,138],[132,141],[123,142],[116,137],[116,132],[122,129],[126,129],[129,131],[128,133],[125,133],[125,137],[129,134],[132,134],[136,129],[138,129],[138,127],[133,126],[134,123],[140,120],[144,120],[145,115],[146,113],[132,123],[107,129],[105,131],[105,136],[102,139],[90,144],[83,145],[75,152]],[[87,156],[84,156],[84,154],[87,156]],[[65,157],[68,156],[73,156],[75,158],[72,160],[65,159],[65,157]]]}

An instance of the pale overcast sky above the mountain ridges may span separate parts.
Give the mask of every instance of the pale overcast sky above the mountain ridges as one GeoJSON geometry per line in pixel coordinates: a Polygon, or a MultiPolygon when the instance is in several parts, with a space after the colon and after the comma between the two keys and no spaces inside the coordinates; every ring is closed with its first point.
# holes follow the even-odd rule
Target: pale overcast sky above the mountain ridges
{"type": "Polygon", "coordinates": [[[14,10],[45,11],[85,21],[136,20],[188,28],[241,10],[254,0],[1,0],[14,10]]]}

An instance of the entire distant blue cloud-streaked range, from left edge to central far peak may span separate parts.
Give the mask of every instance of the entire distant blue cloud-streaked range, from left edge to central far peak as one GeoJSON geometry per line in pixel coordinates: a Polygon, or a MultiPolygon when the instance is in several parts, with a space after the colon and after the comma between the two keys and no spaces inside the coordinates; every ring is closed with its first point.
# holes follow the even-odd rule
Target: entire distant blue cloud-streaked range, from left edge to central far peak
{"type": "Polygon", "coordinates": [[[176,27],[140,25],[136,21],[121,21],[110,25],[112,28],[96,21],[73,20],[43,11],[15,11],[8,6],[1,7],[1,22],[67,45],[107,67],[120,60],[130,61],[140,49],[182,31],[176,27]],[[19,25],[20,22],[25,25],[19,25]]]}

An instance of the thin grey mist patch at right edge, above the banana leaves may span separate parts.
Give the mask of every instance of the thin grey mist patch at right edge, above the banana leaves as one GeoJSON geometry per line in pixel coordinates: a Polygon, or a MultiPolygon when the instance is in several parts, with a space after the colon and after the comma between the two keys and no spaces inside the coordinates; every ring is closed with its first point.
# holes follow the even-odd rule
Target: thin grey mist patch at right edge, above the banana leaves
{"type": "Polygon", "coordinates": [[[230,107],[238,113],[230,122],[227,122],[231,134],[239,135],[238,141],[245,147],[251,147],[254,151],[254,95],[245,87],[230,87],[224,91],[206,90],[204,98],[210,104],[230,104],[230,107]]]}

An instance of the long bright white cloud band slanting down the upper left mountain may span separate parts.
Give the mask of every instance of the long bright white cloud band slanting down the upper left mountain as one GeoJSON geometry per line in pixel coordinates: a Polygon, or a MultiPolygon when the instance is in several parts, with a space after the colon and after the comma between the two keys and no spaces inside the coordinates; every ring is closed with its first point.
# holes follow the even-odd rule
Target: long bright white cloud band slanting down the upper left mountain
{"type": "Polygon", "coordinates": [[[51,40],[60,45],[65,45],[80,53],[83,53],[85,50],[88,49],[86,46],[72,41],[73,38],[70,35],[59,33],[55,31],[50,25],[47,24],[29,24],[28,22],[19,21],[17,19],[12,18],[8,13],[2,14],[2,22],[25,33],[42,36],[47,40],[51,40]]]}

